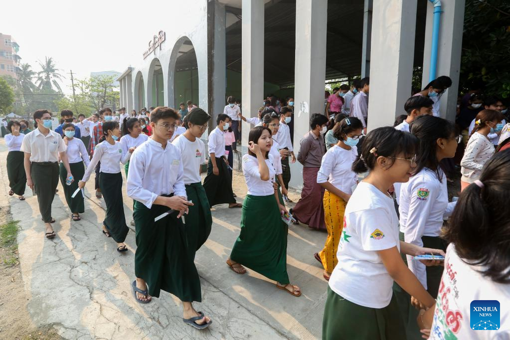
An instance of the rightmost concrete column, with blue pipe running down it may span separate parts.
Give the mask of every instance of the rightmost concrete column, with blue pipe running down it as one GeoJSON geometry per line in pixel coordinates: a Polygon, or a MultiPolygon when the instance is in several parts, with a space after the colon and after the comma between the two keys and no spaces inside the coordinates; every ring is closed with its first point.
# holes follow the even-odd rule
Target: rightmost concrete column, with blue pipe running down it
{"type": "MultiPolygon", "coordinates": [[[[437,76],[449,76],[452,84],[441,96],[439,113],[442,118],[454,121],[457,105],[458,78],[461,69],[462,32],[466,1],[448,0],[442,1],[441,4],[443,12],[441,13],[441,23],[439,26],[438,66],[436,74],[437,76]]],[[[433,11],[433,5],[429,3],[425,26],[422,89],[429,83],[433,11]]]]}

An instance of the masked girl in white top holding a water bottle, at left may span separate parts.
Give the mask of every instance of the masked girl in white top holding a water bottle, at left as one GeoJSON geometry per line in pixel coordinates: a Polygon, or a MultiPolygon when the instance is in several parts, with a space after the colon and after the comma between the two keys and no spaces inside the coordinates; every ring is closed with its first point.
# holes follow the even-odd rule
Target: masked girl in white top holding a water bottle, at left
{"type": "Polygon", "coordinates": [[[82,193],[71,197],[74,191],[78,189],[78,180],[85,174],[85,167],[89,166],[89,154],[85,148],[85,144],[79,138],[74,137],[75,126],[72,123],[65,123],[62,126],[64,132],[64,143],[67,145],[65,153],[69,161],[69,168],[74,177],[71,185],[67,185],[66,169],[64,163],[60,162],[60,183],[64,188],[64,196],[67,206],[71,211],[71,219],[73,221],[80,221],[80,214],[85,212],[85,201],[82,193]],[[83,164],[85,163],[85,167],[83,164]]]}

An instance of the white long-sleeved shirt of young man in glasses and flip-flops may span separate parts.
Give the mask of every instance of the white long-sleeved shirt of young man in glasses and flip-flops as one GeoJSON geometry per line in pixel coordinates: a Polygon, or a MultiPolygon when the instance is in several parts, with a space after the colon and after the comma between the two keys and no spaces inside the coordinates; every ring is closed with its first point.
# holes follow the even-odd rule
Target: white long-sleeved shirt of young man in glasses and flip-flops
{"type": "Polygon", "coordinates": [[[127,173],[127,195],[149,209],[161,195],[187,197],[179,148],[149,138],[133,152],[127,173]]]}

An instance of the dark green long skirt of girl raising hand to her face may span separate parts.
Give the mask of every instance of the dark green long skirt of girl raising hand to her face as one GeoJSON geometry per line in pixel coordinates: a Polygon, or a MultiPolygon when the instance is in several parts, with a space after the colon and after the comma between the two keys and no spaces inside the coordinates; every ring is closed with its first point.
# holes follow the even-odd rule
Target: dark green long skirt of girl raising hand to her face
{"type": "Polygon", "coordinates": [[[241,233],[230,258],[271,280],[289,283],[288,230],[274,195],[246,195],[242,207],[241,233]]]}

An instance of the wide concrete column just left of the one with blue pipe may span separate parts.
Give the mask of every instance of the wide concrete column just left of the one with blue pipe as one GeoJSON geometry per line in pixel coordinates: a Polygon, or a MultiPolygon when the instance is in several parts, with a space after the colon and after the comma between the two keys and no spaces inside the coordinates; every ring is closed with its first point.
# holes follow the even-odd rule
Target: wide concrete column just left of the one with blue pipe
{"type": "Polygon", "coordinates": [[[416,1],[374,0],[368,129],[392,125],[411,96],[416,1]]]}

